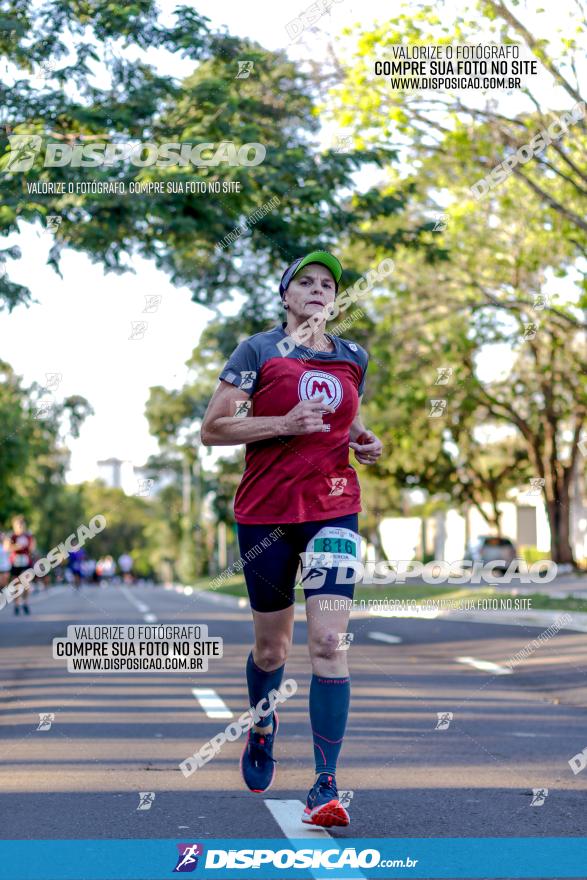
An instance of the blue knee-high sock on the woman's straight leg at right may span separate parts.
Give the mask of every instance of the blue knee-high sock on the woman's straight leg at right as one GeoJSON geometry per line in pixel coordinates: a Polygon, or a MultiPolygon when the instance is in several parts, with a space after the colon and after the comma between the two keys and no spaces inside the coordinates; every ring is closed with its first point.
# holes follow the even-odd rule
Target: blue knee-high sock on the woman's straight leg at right
{"type": "Polygon", "coordinates": [[[346,727],[351,699],[350,678],[312,675],[310,723],[314,738],[316,773],[336,773],[336,762],[346,727]]]}

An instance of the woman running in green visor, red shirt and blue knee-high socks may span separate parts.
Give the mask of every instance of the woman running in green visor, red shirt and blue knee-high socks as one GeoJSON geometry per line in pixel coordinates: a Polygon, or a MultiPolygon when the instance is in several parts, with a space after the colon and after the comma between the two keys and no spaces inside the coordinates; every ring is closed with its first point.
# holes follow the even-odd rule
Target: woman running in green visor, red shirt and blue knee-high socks
{"type": "MultiPolygon", "coordinates": [[[[234,513],[255,628],[246,667],[251,706],[281,684],[304,561],[317,778],[302,820],[322,826],[350,821],[338,799],[336,764],[350,701],[348,652],[339,647],[351,602],[324,597],[352,599],[354,582],[337,583],[337,566],[360,558],[360,489],[349,447],[361,464],[375,462],[382,450],[359,415],[368,355],[324,332],[341,275],[339,261],[325,251],[286,269],[279,292],[287,320],[237,346],[201,429],[206,446],[246,444],[234,513]],[[298,340],[305,331],[303,345],[295,344],[296,331],[298,340]]],[[[251,791],[267,791],[273,782],[277,732],[275,711],[249,732],[241,772],[251,791]]]]}

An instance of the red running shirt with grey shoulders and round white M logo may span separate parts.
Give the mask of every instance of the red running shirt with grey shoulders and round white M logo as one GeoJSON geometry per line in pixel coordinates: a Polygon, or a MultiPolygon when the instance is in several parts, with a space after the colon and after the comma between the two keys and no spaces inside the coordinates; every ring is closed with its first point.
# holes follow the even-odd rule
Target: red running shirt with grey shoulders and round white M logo
{"type": "Polygon", "coordinates": [[[244,407],[249,406],[243,412],[249,416],[285,415],[301,400],[321,394],[335,412],[323,415],[327,430],[322,432],[247,443],[234,504],[238,523],[312,522],[361,510],[359,481],[349,463],[349,429],[363,393],[367,352],[329,336],[334,351],[299,345],[283,356],[290,342],[284,326],[241,342],[220,379],[243,391],[244,407]]]}

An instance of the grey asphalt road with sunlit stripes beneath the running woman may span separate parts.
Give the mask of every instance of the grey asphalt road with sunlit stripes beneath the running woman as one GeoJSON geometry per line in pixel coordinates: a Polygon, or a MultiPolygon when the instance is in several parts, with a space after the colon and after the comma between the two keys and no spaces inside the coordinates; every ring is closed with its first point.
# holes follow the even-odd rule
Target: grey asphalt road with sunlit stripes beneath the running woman
{"type": "MultiPolygon", "coordinates": [[[[302,802],[314,778],[303,613],[287,664],[298,691],[280,714],[270,791],[243,790],[243,740],[189,779],[178,766],[229,723],[207,717],[193,688],[213,689],[233,720],[247,708],[252,626],[234,605],[162,587],[87,586],[35,595],[28,618],[0,612],[5,839],[293,836],[279,802],[302,802]],[[52,659],[51,640],[68,624],[145,620],[206,623],[224,657],[196,677],[70,674],[52,659]],[[55,715],[49,730],[37,730],[41,713],[55,715]],[[154,792],[150,809],[137,810],[139,792],[154,792]]],[[[569,765],[587,747],[584,633],[561,631],[505,674],[540,629],[358,616],[350,630],[338,781],[353,792],[352,822],[333,837],[585,834],[587,768],[575,775],[569,765]],[[452,713],[445,729],[438,713],[452,713]],[[531,806],[533,789],[548,789],[542,806],[531,806]]]]}

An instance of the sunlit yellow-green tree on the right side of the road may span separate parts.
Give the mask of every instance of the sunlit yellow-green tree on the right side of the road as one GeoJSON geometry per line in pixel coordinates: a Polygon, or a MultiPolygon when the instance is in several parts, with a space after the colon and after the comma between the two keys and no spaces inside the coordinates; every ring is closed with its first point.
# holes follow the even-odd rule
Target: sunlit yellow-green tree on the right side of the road
{"type": "MultiPolygon", "coordinates": [[[[392,449],[387,476],[452,502],[489,500],[496,527],[496,499],[512,484],[536,480],[553,558],[570,562],[569,490],[587,402],[585,121],[578,119],[572,132],[519,163],[499,188],[475,201],[475,181],[529,143],[560,110],[541,104],[531,88],[524,90],[527,111],[508,116],[495,101],[483,107],[478,94],[468,100],[462,93],[393,91],[369,75],[376,48],[478,42],[482,29],[496,42],[525,43],[560,89],[581,100],[570,77],[584,54],[583,20],[561,41],[561,63],[555,60],[558,35],[537,39],[505,3],[479,2],[475,13],[459,19],[457,11],[443,8],[441,20],[429,5],[410,4],[409,12],[352,35],[354,56],[331,92],[330,112],[354,131],[355,146],[391,143],[404,151],[405,168],[417,168],[417,175],[392,173],[382,194],[411,182],[408,215],[416,213],[420,222],[434,218],[430,234],[440,228],[443,248],[424,263],[400,252],[392,291],[373,308],[374,348],[383,364],[373,411],[376,418],[389,396],[386,383],[393,382],[381,426],[392,449]],[[397,345],[388,353],[390,334],[397,345]],[[482,380],[480,358],[488,351],[504,357],[508,349],[509,369],[499,379],[482,380]],[[455,373],[447,388],[435,384],[444,366],[455,373]],[[429,418],[431,399],[444,399],[442,417],[429,418]],[[493,442],[486,432],[480,445],[481,426],[493,442]]],[[[393,221],[382,218],[378,226],[393,230],[393,221]]]]}

